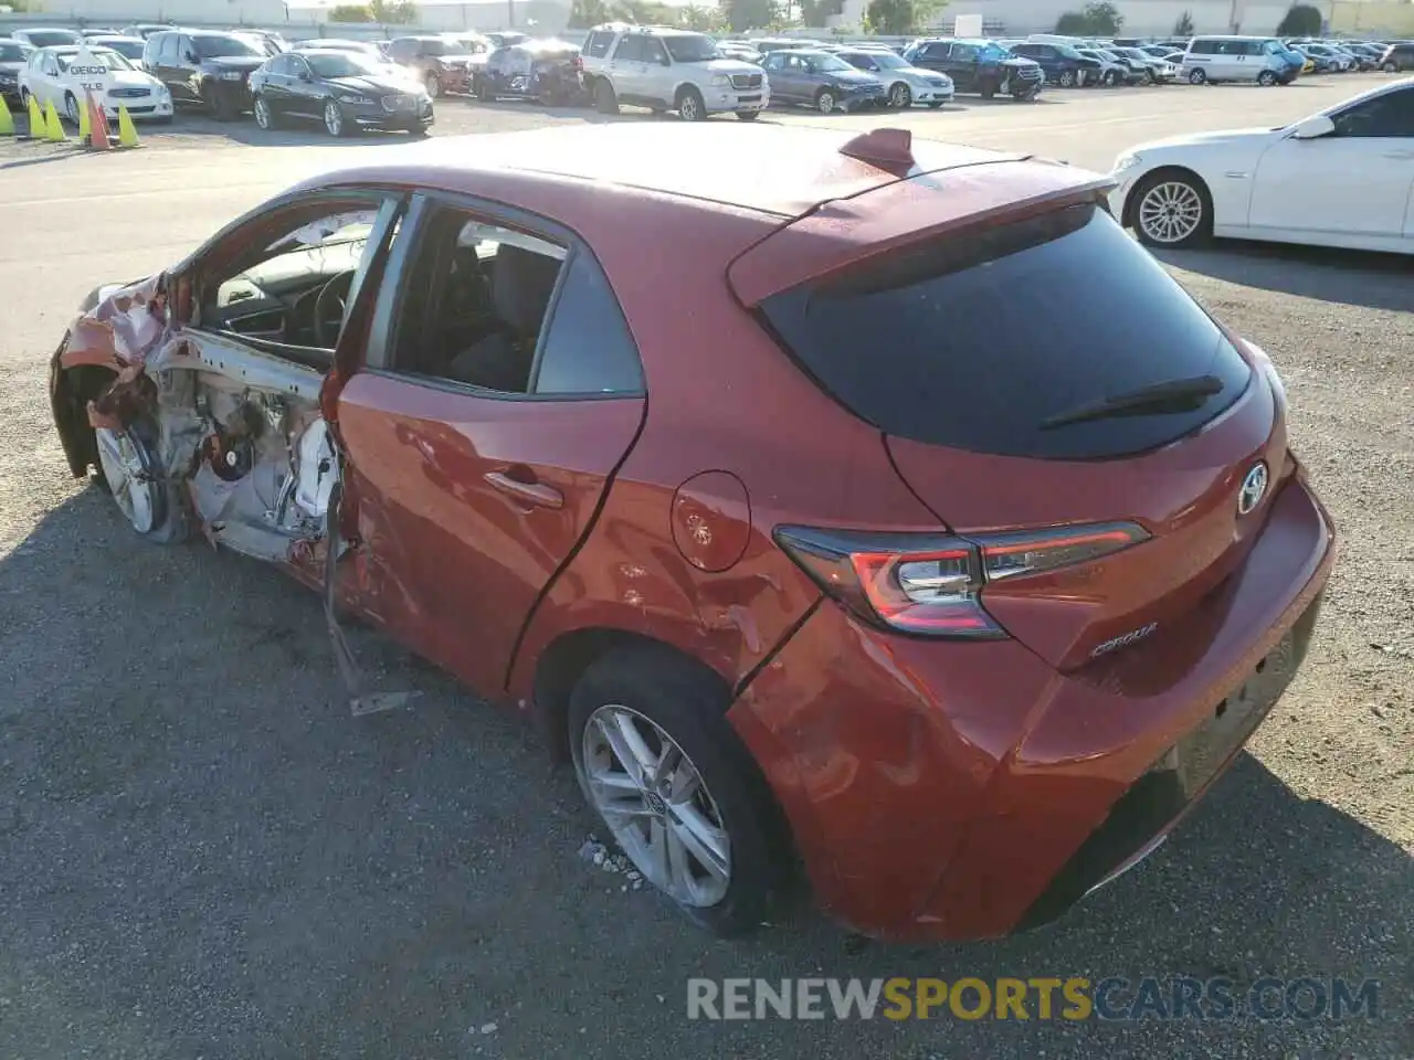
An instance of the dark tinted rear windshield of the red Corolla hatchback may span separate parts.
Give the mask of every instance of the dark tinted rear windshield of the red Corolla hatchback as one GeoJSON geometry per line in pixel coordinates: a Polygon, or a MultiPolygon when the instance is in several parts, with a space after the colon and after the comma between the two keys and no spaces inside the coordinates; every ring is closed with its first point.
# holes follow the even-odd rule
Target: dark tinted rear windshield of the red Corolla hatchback
{"type": "Polygon", "coordinates": [[[1212,318],[1093,204],[932,240],[761,308],[855,416],[973,452],[1141,452],[1212,420],[1250,377],[1212,318]],[[1220,383],[1196,408],[1046,423],[1196,376],[1220,383]]]}

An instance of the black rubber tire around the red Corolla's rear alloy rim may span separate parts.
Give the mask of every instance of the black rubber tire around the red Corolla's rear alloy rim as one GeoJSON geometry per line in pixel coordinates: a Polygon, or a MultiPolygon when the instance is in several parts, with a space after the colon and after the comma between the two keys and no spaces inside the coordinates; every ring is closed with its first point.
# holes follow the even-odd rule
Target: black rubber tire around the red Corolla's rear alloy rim
{"type": "Polygon", "coordinates": [[[677,907],[715,936],[752,931],[786,883],[782,852],[789,840],[761,770],[727,721],[728,690],[663,649],[618,649],[590,666],[570,694],[568,736],[574,772],[591,808],[584,732],[594,711],[609,704],[633,711],[672,736],[711,793],[727,831],[731,871],[725,896],[713,906],[677,907]]]}

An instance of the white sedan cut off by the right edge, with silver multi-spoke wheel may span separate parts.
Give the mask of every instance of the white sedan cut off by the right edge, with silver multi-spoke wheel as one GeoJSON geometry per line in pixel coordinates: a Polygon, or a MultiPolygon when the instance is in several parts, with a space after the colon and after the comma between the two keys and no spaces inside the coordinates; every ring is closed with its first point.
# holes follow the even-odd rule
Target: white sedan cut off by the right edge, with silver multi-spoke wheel
{"type": "Polygon", "coordinates": [[[1110,209],[1140,242],[1209,236],[1414,253],[1414,78],[1282,129],[1154,140],[1114,163],[1110,209]]]}

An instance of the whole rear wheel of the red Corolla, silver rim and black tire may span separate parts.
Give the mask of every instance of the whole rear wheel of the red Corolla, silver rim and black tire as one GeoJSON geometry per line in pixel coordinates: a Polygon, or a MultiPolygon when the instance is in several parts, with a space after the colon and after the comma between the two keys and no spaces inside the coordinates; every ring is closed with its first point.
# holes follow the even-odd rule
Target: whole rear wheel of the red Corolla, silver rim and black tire
{"type": "Polygon", "coordinates": [[[585,800],[645,879],[720,936],[761,923],[788,847],[728,705],[710,674],[631,647],[590,666],[568,711],[585,800]]]}

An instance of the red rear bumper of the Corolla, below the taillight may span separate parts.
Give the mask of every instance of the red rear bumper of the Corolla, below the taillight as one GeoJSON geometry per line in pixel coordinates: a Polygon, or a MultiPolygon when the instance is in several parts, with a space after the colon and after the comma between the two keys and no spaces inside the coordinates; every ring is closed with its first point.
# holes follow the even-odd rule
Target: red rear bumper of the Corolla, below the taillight
{"type": "Polygon", "coordinates": [[[1051,920],[1141,858],[1305,656],[1333,531],[1297,479],[1189,628],[1062,676],[1017,642],[888,636],[824,602],[728,715],[820,903],[867,934],[1051,920]]]}

